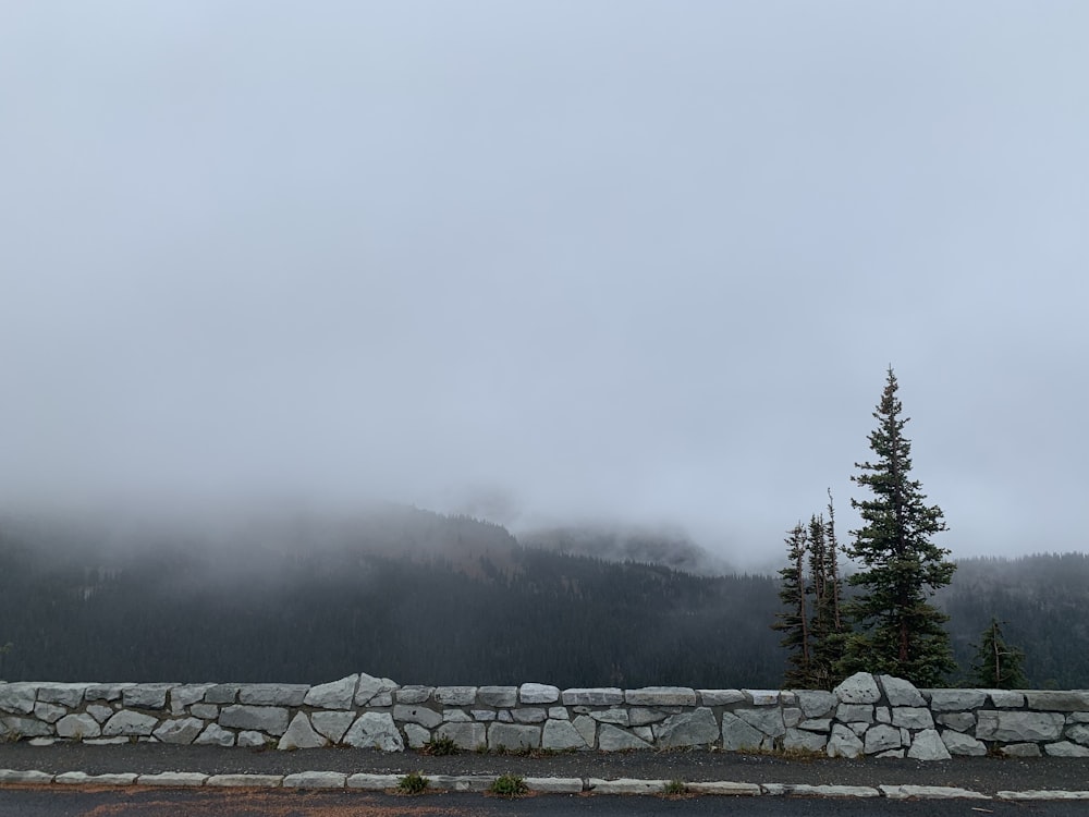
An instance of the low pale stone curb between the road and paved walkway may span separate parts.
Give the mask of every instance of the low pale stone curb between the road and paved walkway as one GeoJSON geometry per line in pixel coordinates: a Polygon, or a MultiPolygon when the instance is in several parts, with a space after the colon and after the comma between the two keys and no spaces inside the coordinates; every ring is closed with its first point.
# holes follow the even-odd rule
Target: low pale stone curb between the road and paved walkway
{"type": "MultiPolygon", "coordinates": [[[[204,775],[195,771],[164,771],[156,775],[136,772],[87,775],[83,771],[50,773],[38,770],[0,769],[3,785],[157,785],[171,788],[248,788],[248,789],[355,789],[381,792],[395,790],[400,775],[344,775],[338,771],[303,771],[294,775],[204,775]]],[[[428,778],[430,791],[486,792],[493,775],[435,775],[428,778]]],[[[660,795],[668,780],[619,778],[524,778],[531,792],[541,794],[660,795]]],[[[1089,801],[1089,791],[1039,790],[1000,791],[993,797],[970,789],[944,785],[808,785],[805,783],[739,783],[712,781],[686,783],[686,794],[754,797],[852,797],[886,800],[1000,800],[1000,801],[1089,801]]]]}

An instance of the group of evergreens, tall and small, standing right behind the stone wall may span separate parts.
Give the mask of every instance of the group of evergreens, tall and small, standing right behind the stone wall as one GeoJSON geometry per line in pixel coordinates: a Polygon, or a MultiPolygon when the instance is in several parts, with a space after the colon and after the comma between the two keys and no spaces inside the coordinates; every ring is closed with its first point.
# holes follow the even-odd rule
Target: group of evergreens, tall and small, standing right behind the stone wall
{"type": "MultiPolygon", "coordinates": [[[[942,509],[928,504],[911,478],[908,418],[889,368],[869,435],[872,462],[856,463],[852,481],[868,491],[852,499],[861,525],[842,552],[859,569],[840,578],[840,545],[829,493],[828,520],[812,516],[786,538],[787,566],[780,571],[784,606],[772,629],[788,655],[786,685],[832,688],[846,675],[879,672],[918,686],[941,686],[958,672],[946,630],[950,615],[934,601],[953,581],[956,564],[934,537],[947,528],[942,509]],[[842,613],[842,614],[841,614],[842,613]]],[[[970,662],[969,681],[982,686],[1024,686],[1025,654],[1006,642],[991,617],[970,662]]]]}

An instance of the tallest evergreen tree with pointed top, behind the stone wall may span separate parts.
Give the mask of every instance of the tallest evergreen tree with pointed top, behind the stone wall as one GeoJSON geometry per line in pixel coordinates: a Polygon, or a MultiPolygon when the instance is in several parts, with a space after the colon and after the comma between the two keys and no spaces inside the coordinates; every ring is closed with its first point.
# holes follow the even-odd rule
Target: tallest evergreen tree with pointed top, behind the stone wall
{"type": "Polygon", "coordinates": [[[861,527],[852,531],[851,557],[862,569],[849,577],[859,593],[847,610],[856,632],[847,639],[844,673],[865,670],[935,686],[956,669],[944,623],[949,617],[930,603],[953,578],[956,564],[932,537],[946,529],[938,505],[928,505],[921,484],[910,478],[911,443],[904,436],[908,418],[896,397],[892,367],[869,435],[874,462],[855,463],[852,480],[872,498],[852,500],[861,527]]]}

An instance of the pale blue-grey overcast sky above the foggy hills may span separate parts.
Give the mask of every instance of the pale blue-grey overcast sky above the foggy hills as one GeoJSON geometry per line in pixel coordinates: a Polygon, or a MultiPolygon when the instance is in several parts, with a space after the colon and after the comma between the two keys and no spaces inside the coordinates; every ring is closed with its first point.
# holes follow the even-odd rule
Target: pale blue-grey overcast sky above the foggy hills
{"type": "Polygon", "coordinates": [[[4,2],[0,507],[382,498],[741,564],[891,364],[1085,550],[1089,3],[4,2]]]}

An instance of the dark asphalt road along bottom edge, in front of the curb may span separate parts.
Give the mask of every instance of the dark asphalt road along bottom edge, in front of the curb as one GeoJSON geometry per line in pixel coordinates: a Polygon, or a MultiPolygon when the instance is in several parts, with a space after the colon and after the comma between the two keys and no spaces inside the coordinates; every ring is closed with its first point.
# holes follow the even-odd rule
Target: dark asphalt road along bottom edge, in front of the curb
{"type": "Polygon", "coordinates": [[[819,797],[538,795],[501,800],[479,794],[395,796],[344,791],[209,791],[188,789],[0,789],[0,817],[1086,817],[1086,803],[873,801],[819,797]]]}

